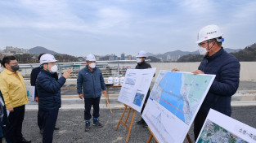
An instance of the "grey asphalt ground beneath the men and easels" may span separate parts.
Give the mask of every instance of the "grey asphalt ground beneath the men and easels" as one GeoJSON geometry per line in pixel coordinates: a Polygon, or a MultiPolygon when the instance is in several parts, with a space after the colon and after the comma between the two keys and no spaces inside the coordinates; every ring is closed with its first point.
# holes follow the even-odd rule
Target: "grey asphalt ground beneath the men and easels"
{"type": "MultiPolygon", "coordinates": [[[[124,109],[113,109],[114,115],[110,115],[108,109],[101,109],[101,123],[103,128],[93,127],[89,132],[84,132],[83,110],[60,110],[57,119],[57,126],[60,130],[54,132],[55,143],[124,143],[128,130],[124,125],[120,125],[115,131],[120,116],[124,109]]],[[[256,106],[232,107],[232,118],[244,124],[256,128],[256,106]]],[[[132,124],[132,132],[129,138],[130,143],[146,142],[150,136],[147,128],[143,128],[136,122],[140,119],[140,114],[136,113],[135,123],[132,124]]],[[[193,125],[189,131],[191,139],[194,141],[193,125]]],[[[42,135],[39,134],[37,126],[37,111],[27,110],[23,124],[23,134],[32,142],[42,142],[42,135]]],[[[4,139],[3,139],[4,140],[4,139]]],[[[5,142],[5,140],[3,141],[5,142]]],[[[153,141],[152,141],[153,142],[153,141]]],[[[184,142],[187,142],[186,140],[184,142]]]]}

